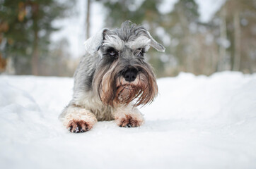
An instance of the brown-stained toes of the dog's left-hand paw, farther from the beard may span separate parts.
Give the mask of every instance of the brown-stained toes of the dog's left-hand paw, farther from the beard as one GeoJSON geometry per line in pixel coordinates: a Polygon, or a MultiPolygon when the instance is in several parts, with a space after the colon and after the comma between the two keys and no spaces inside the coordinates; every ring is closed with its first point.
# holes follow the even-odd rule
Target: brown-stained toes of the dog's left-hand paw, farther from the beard
{"type": "Polygon", "coordinates": [[[93,125],[84,120],[70,120],[68,128],[70,132],[87,132],[93,128],[93,125]]]}

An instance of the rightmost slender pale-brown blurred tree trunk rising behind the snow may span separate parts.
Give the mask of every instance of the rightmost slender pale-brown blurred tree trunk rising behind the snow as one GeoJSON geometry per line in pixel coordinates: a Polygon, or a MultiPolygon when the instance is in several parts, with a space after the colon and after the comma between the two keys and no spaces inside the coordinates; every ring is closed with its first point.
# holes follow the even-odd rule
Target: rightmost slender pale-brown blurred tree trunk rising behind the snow
{"type": "Polygon", "coordinates": [[[233,62],[233,70],[240,69],[240,56],[241,56],[241,30],[240,30],[240,17],[239,11],[235,11],[234,15],[234,33],[235,33],[235,54],[233,62]]]}

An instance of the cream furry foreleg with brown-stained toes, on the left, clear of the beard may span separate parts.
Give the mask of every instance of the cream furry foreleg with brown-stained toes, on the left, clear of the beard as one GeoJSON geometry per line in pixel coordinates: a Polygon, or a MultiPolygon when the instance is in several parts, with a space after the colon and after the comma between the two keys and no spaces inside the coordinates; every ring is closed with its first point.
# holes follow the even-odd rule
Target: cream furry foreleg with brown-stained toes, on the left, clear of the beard
{"type": "Polygon", "coordinates": [[[78,106],[67,106],[59,119],[70,132],[86,132],[93,128],[97,122],[95,115],[85,108],[78,106]]]}

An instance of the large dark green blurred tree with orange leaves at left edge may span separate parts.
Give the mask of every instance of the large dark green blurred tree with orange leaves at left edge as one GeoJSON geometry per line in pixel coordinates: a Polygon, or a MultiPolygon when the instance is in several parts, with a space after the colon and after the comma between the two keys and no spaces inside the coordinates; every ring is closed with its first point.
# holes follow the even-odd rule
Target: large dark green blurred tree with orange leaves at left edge
{"type": "Polygon", "coordinates": [[[47,56],[50,35],[58,30],[52,22],[69,15],[66,10],[73,3],[60,4],[57,0],[1,0],[1,3],[0,23],[7,27],[0,32],[2,55],[14,59],[17,74],[38,75],[38,61],[47,56]]]}

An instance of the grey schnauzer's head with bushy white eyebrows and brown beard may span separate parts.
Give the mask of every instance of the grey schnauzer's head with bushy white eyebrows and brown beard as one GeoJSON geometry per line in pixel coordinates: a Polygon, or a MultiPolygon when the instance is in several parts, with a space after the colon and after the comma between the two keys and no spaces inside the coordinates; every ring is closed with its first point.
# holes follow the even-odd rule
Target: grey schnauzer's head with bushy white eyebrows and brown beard
{"type": "Polygon", "coordinates": [[[165,48],[144,27],[125,21],[118,29],[102,30],[85,45],[89,54],[100,56],[92,86],[103,104],[127,105],[136,99],[134,106],[139,106],[153,101],[158,93],[156,76],[144,57],[150,46],[165,48]]]}

